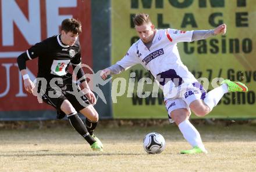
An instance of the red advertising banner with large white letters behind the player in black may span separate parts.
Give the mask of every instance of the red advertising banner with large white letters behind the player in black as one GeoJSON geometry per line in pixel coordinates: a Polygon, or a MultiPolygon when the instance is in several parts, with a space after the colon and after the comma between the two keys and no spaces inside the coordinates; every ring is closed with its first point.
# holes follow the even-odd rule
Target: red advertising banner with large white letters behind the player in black
{"type": "MultiPolygon", "coordinates": [[[[83,63],[92,65],[91,1],[0,0],[0,112],[52,109],[27,93],[16,58],[31,45],[59,34],[63,19],[78,19],[83,63]]],[[[27,61],[31,80],[37,76],[37,60],[27,61]]]]}

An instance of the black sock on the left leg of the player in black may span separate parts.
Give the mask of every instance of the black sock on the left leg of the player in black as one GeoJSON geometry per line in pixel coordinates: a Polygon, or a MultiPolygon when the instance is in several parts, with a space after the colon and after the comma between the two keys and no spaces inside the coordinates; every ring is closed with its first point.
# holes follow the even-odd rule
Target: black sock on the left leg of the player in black
{"type": "Polygon", "coordinates": [[[90,134],[88,133],[86,127],[84,126],[83,121],[81,120],[81,118],[79,118],[79,116],[77,114],[70,114],[67,115],[67,118],[69,118],[69,121],[71,123],[71,125],[74,127],[74,129],[81,135],[83,136],[83,138],[90,144],[92,145],[95,140],[93,137],[90,136],[90,134]]]}

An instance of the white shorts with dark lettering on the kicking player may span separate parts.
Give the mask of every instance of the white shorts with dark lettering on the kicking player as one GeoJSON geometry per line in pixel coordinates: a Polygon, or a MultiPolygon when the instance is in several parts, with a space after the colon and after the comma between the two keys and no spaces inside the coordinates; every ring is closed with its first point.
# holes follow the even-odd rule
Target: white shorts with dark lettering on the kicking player
{"type": "Polygon", "coordinates": [[[192,83],[190,87],[180,90],[179,96],[165,100],[165,108],[168,112],[170,123],[174,122],[170,116],[172,111],[176,109],[187,109],[189,111],[189,115],[191,115],[189,108],[190,103],[194,100],[204,100],[206,93],[207,92],[204,90],[204,87],[202,87],[199,82],[195,82],[192,83]]]}

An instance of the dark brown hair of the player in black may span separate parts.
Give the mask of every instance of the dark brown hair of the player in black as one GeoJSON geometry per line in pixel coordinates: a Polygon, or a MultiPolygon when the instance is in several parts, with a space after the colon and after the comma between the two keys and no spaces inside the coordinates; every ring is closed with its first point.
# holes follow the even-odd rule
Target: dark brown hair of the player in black
{"type": "Polygon", "coordinates": [[[61,23],[61,30],[80,34],[82,32],[81,22],[76,19],[65,19],[61,23]]]}

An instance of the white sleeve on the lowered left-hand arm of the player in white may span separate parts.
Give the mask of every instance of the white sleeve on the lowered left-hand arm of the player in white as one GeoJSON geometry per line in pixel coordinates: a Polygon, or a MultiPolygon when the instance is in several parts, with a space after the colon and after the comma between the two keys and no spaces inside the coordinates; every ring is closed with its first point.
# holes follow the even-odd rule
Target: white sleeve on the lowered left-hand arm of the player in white
{"type": "Polygon", "coordinates": [[[128,52],[126,53],[125,57],[123,57],[120,61],[118,61],[116,64],[120,65],[121,67],[128,69],[132,67],[133,65],[140,64],[141,61],[138,58],[136,54],[136,50],[133,46],[130,47],[128,52]]]}

